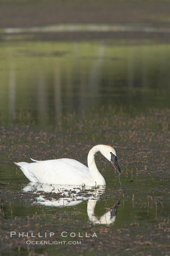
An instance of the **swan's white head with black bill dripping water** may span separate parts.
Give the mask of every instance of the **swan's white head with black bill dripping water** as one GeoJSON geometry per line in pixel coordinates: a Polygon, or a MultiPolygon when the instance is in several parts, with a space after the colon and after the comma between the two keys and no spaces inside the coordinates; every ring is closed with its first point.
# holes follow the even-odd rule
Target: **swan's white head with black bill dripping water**
{"type": "Polygon", "coordinates": [[[108,161],[110,161],[113,164],[115,169],[120,173],[121,170],[117,162],[116,151],[114,150],[114,148],[110,146],[107,146],[107,145],[102,145],[102,146],[103,147],[100,150],[100,152],[102,153],[102,155],[104,155],[105,158],[107,158],[108,161]]]}

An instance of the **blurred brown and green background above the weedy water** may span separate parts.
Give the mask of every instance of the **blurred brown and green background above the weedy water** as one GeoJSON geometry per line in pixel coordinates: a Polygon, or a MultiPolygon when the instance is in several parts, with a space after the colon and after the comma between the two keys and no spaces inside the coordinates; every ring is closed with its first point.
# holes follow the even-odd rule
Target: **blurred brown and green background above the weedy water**
{"type": "Polygon", "coordinates": [[[169,14],[169,1],[1,1],[3,121],[169,108],[169,14]]]}

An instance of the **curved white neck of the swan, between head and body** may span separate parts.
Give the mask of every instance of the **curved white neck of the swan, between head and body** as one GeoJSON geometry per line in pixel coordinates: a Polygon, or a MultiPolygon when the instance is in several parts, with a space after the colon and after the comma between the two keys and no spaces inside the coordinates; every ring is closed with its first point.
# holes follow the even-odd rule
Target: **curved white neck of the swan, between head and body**
{"type": "Polygon", "coordinates": [[[97,169],[94,155],[100,151],[102,145],[96,145],[88,153],[87,157],[87,164],[88,164],[88,169],[91,173],[91,176],[93,180],[96,182],[96,185],[106,185],[106,182],[104,180],[104,177],[100,174],[99,170],[97,169]]]}

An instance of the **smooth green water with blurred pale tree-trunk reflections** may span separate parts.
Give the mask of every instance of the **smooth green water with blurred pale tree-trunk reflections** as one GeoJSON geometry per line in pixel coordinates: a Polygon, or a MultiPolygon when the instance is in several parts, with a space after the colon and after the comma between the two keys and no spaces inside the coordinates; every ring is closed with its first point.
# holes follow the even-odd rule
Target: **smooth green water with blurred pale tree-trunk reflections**
{"type": "Polygon", "coordinates": [[[39,124],[101,106],[169,107],[170,45],[114,42],[1,44],[0,112],[29,111],[39,124]]]}

